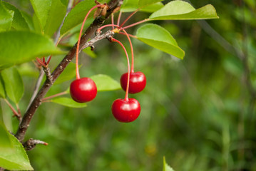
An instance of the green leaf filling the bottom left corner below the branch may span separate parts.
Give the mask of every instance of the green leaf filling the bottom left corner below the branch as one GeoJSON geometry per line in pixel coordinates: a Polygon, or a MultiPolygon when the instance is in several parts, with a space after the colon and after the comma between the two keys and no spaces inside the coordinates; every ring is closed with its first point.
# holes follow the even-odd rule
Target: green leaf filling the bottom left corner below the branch
{"type": "Polygon", "coordinates": [[[34,170],[24,147],[0,122],[0,167],[7,170],[34,170]],[[7,144],[6,144],[7,143],[7,144]]]}

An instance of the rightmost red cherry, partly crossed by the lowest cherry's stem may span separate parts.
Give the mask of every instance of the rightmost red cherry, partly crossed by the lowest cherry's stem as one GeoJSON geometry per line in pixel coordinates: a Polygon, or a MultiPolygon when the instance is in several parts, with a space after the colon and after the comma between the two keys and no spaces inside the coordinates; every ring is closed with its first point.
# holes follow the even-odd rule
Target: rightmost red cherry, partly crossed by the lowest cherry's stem
{"type": "MultiPolygon", "coordinates": [[[[120,83],[123,90],[126,90],[128,73],[124,73],[121,76],[120,83]]],[[[144,73],[138,71],[130,73],[129,93],[139,93],[145,88],[146,78],[144,73]]]]}

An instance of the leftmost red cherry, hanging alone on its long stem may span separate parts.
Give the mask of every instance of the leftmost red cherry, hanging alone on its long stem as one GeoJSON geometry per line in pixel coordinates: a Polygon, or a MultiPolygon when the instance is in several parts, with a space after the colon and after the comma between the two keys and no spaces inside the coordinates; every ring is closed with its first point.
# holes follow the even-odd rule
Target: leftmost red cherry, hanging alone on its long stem
{"type": "Polygon", "coordinates": [[[76,102],[85,103],[96,97],[97,87],[91,78],[79,78],[71,83],[70,94],[76,102]]]}

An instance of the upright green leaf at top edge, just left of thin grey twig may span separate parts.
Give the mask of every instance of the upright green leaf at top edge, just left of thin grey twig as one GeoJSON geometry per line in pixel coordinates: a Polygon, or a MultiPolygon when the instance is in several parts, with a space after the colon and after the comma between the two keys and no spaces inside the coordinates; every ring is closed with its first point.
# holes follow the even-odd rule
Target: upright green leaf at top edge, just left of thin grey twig
{"type": "Polygon", "coordinates": [[[51,9],[49,10],[46,25],[44,27],[44,33],[48,36],[52,36],[53,33],[61,25],[64,16],[66,15],[66,6],[62,4],[60,0],[54,0],[51,2],[51,9]]]}

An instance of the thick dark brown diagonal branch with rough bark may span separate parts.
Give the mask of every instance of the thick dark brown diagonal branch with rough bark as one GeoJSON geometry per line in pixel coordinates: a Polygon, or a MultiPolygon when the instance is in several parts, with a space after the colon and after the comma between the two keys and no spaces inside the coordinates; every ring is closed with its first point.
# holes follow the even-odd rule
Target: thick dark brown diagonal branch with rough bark
{"type": "MultiPolygon", "coordinates": [[[[82,48],[85,46],[88,39],[93,37],[93,35],[95,35],[97,29],[104,23],[104,21],[108,18],[108,16],[110,16],[116,8],[121,6],[122,3],[123,3],[123,0],[111,0],[108,3],[109,9],[106,13],[106,16],[98,16],[93,21],[93,24],[91,24],[91,26],[88,27],[88,29],[83,34],[83,36],[81,36],[81,46],[80,46],[81,48],[79,49],[79,51],[82,50],[82,48]]],[[[88,44],[91,44],[91,43],[88,43],[88,44]]],[[[58,78],[58,76],[63,72],[63,70],[66,68],[68,63],[71,62],[71,60],[75,57],[75,55],[76,55],[76,44],[73,46],[73,48],[71,48],[71,50],[68,52],[65,58],[63,58],[61,63],[58,64],[57,68],[53,71],[53,73],[51,73],[52,82],[47,79],[43,83],[43,86],[39,90],[39,93],[37,93],[36,97],[32,101],[28,110],[26,110],[26,113],[22,118],[19,128],[16,132],[15,136],[20,142],[24,140],[26,130],[29,128],[29,123],[31,122],[31,119],[34,116],[34,113],[36,113],[37,108],[39,108],[39,105],[41,105],[41,101],[44,95],[46,95],[48,90],[51,88],[52,84],[56,81],[56,78],[58,78]]]]}

